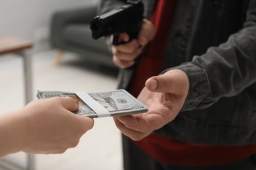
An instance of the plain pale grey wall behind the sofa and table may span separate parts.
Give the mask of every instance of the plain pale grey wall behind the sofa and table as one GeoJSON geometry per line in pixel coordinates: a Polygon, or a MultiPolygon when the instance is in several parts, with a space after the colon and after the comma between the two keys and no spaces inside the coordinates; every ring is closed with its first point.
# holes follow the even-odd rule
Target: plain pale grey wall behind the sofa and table
{"type": "Polygon", "coordinates": [[[35,41],[48,28],[55,10],[81,7],[97,0],[0,0],[0,35],[35,41]]]}

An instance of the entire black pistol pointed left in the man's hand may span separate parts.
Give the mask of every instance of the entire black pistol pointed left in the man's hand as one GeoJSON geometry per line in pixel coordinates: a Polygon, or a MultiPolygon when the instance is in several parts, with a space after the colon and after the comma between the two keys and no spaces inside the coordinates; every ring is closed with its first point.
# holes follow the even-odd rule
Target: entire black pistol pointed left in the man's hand
{"type": "Polygon", "coordinates": [[[121,33],[127,33],[129,41],[137,39],[144,18],[143,12],[144,5],[141,1],[128,0],[119,9],[95,16],[90,22],[93,39],[114,35],[114,45],[126,43],[119,41],[121,33]]]}

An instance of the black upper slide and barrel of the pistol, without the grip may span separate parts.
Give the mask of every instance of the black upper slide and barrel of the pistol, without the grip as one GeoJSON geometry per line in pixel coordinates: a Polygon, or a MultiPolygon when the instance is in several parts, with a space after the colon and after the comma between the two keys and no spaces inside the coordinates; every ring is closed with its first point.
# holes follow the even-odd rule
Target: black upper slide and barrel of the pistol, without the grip
{"type": "Polygon", "coordinates": [[[139,1],[138,3],[128,3],[101,16],[95,16],[90,23],[93,39],[125,31],[129,24],[142,20],[143,12],[144,7],[139,1]]]}

